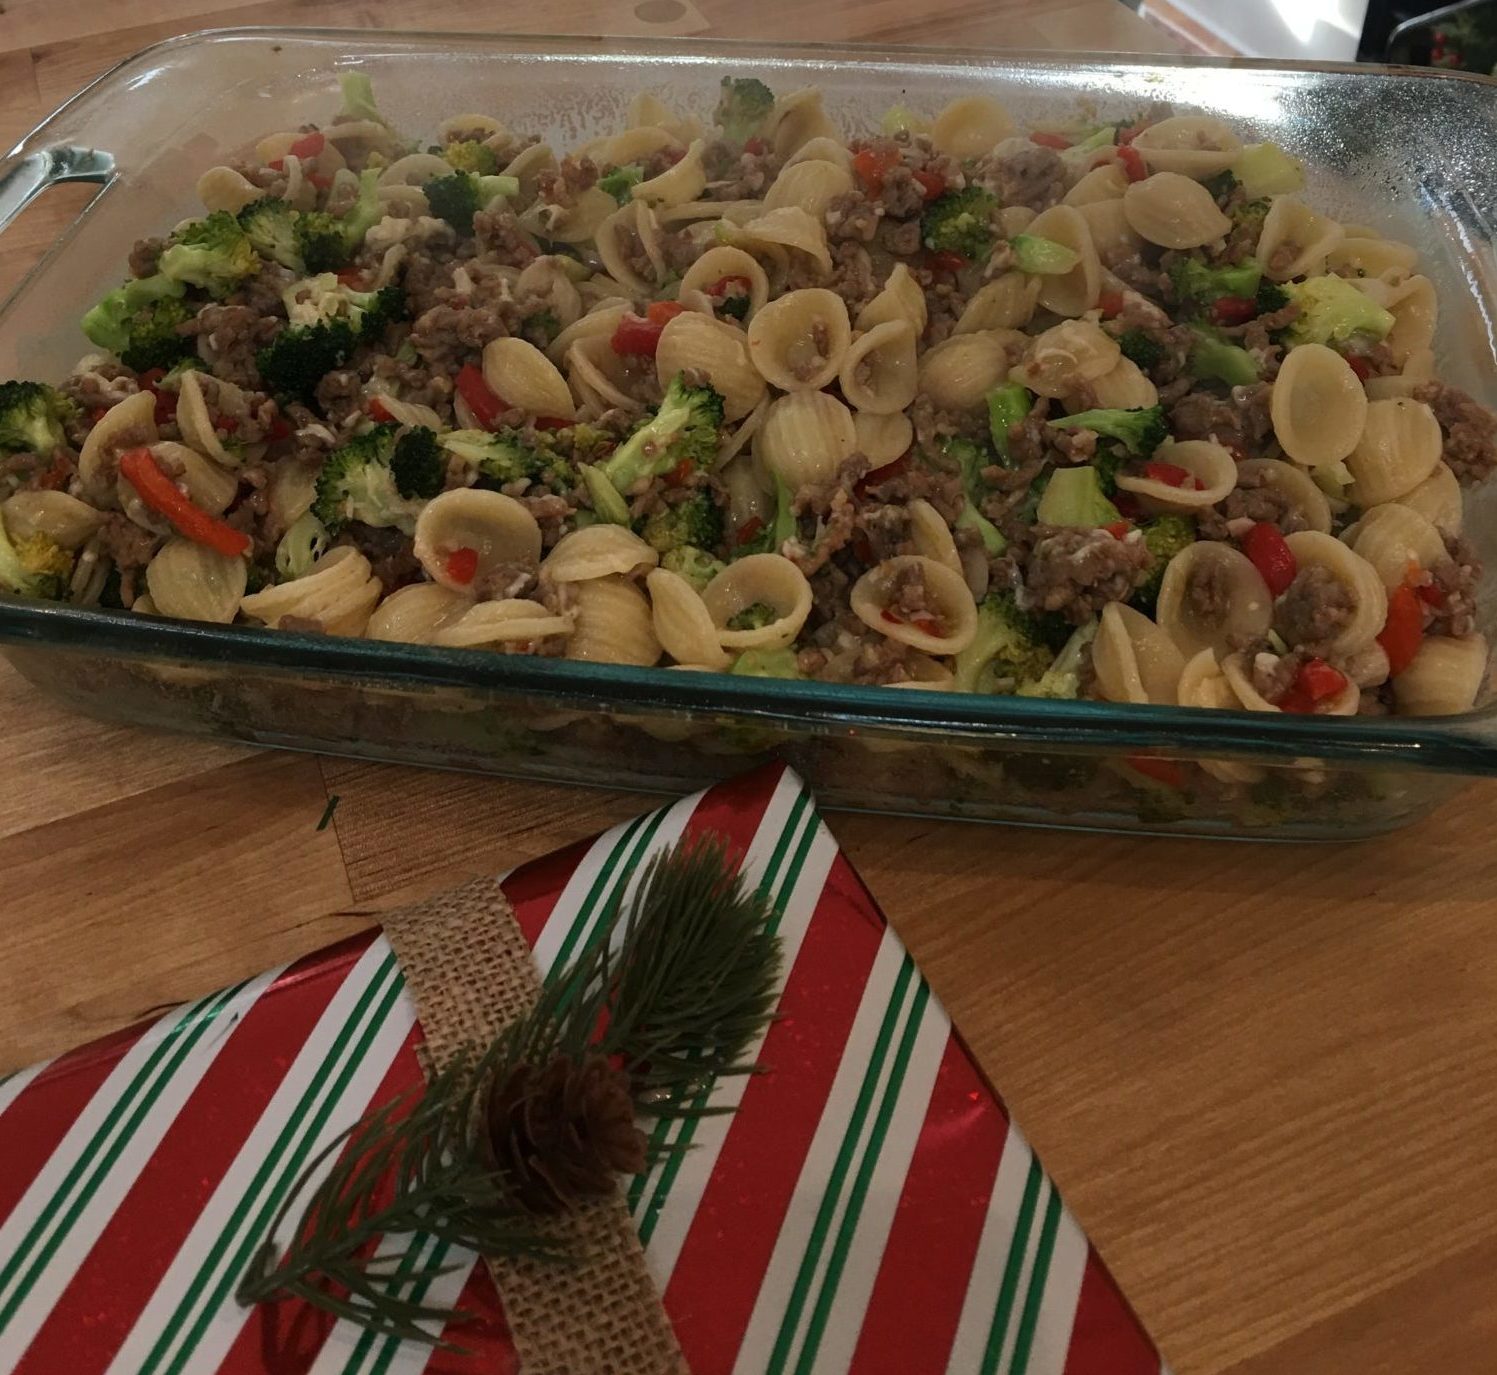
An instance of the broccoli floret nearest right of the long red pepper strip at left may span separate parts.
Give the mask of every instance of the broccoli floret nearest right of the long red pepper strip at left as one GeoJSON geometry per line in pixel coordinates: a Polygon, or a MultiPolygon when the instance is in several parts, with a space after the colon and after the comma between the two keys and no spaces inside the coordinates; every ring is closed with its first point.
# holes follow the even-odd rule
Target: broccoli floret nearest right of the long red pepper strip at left
{"type": "Polygon", "coordinates": [[[394,525],[410,534],[422,506],[442,491],[436,435],[416,426],[376,425],[326,456],[311,513],[329,534],[349,521],[394,525]]]}

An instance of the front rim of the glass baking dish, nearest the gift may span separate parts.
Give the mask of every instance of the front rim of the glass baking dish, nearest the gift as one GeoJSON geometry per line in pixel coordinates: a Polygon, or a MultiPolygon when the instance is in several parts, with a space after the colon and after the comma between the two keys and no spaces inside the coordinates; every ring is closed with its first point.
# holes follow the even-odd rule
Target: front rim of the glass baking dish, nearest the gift
{"type": "Polygon", "coordinates": [[[165,621],[132,612],[0,597],[0,645],[174,660],[355,682],[539,694],[602,711],[732,715],[846,733],[904,732],[990,747],[1335,760],[1451,774],[1497,772],[1484,714],[1464,717],[1266,715],[862,687],[732,673],[590,664],[482,649],[299,634],[253,625],[165,621]]]}

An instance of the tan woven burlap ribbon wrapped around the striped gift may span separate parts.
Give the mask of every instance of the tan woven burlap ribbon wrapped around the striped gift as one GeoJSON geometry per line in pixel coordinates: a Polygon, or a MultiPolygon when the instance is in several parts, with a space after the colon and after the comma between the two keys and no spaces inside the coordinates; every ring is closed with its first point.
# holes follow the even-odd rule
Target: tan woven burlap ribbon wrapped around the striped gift
{"type": "MultiPolygon", "coordinates": [[[[437,1064],[463,1046],[487,1046],[540,992],[530,947],[491,878],[382,920],[437,1064]]],[[[543,1225],[578,1264],[488,1261],[524,1375],[686,1375],[623,1198],[543,1225]]]]}

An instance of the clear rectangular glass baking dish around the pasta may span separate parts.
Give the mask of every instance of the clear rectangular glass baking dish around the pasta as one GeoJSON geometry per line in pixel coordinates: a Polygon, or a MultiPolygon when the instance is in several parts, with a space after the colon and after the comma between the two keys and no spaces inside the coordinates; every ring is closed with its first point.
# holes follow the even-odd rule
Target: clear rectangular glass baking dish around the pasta
{"type": "MultiPolygon", "coordinates": [[[[1302,157],[1313,197],[1332,212],[1419,245],[1440,293],[1440,376],[1494,399],[1497,82],[1485,78],[265,28],[148,48],[0,160],[0,227],[54,183],[102,186],[0,308],[0,377],[66,374],[85,349],[76,322],[117,283],[130,244],[195,212],[198,172],[249,138],[326,118],[337,69],[355,64],[413,133],[482,109],[558,147],[621,127],[644,88],[702,111],[726,72],[781,91],[820,85],[847,129],[874,124],[894,100],[934,111],[978,91],[1028,121],[1121,118],[1154,100],[1219,115],[1302,157]]],[[[1497,566],[1490,491],[1469,500],[1467,524],[1484,561],[1497,566]]],[[[1493,588],[1484,591],[1491,612],[1493,588]]],[[[1482,628],[1491,636],[1491,619],[1482,628]]],[[[0,643],[37,687],[117,721],[666,790],[775,753],[829,805],[927,815],[1343,839],[1416,820],[1460,787],[1458,775],[1497,772],[1493,706],[1449,718],[1326,721],[979,697],[207,627],[9,598],[0,598],[0,643]]]]}

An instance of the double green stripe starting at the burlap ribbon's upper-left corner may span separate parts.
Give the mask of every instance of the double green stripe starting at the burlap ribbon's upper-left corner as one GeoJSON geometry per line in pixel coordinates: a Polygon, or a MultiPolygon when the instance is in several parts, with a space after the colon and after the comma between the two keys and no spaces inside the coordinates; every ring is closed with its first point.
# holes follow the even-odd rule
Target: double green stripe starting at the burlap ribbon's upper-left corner
{"type": "Polygon", "coordinates": [[[352,1077],[359,1059],[367,1053],[370,1041],[374,1038],[385,1017],[389,1014],[389,1008],[394,1005],[403,984],[404,977],[395,964],[395,953],[389,952],[380,962],[368,984],[359,993],[352,1013],[349,1013],[343,1025],[338,1028],[338,1034],[328,1047],[326,1055],[323,1055],[322,1062],[317,1065],[311,1082],[302,1091],[295,1109],[292,1109],[286,1124],[271,1143],[269,1151],[256,1169],[249,1186],[235,1204],[229,1221],[219,1233],[213,1248],[208,1251],[208,1257],[202,1266],[199,1266],[198,1273],[187,1285],[187,1290],[178,1300],[171,1318],[166,1320],[156,1339],[156,1345],[153,1345],[147,1353],[145,1362],[141,1365],[136,1375],[154,1375],[154,1372],[162,1369],[162,1362],[168,1359],[168,1353],[177,1344],[178,1336],[183,1336],[183,1326],[193,1318],[193,1312],[198,1309],[196,1320],[192,1321],[192,1327],[183,1336],[181,1348],[177,1356],[172,1357],[171,1365],[165,1369],[180,1372],[183,1369],[183,1363],[190,1359],[193,1348],[202,1339],[202,1332],[211,1321],[219,1303],[222,1303],[223,1296],[229,1291],[229,1288],[232,1288],[234,1281],[249,1261],[250,1251],[259,1243],[263,1230],[269,1225],[271,1218],[280,1207],[283,1195],[295,1182],[296,1172],[310,1154],[311,1142],[314,1140],[317,1130],[320,1130],[322,1124],[328,1118],[328,1113],[332,1110],[332,1106],[347,1086],[347,1080],[352,1077]],[[376,999],[380,1001],[376,1004],[376,999]],[[358,1032],[359,1038],[355,1043],[355,1029],[361,1022],[365,1022],[371,1008],[374,1014],[367,1020],[362,1031],[358,1032]],[[353,1043],[352,1047],[350,1043],[353,1043]],[[344,1061],[344,1052],[349,1050],[350,1053],[344,1061]],[[340,1061],[344,1061],[341,1068],[340,1061]],[[337,1070],[335,1076],[334,1070],[337,1070]],[[331,1092],[326,1100],[319,1104],[317,1100],[322,1097],[323,1091],[329,1088],[329,1085],[331,1092]],[[310,1131],[305,1133],[301,1140],[295,1140],[298,1131],[308,1118],[311,1119],[310,1131]],[[284,1169],[281,1169],[283,1161],[284,1169]],[[277,1170],[280,1170],[278,1178],[275,1178],[277,1170]],[[260,1197],[262,1191],[263,1198],[260,1197]],[[256,1203],[259,1203],[259,1209],[254,1216],[250,1218],[250,1212],[254,1209],[256,1203]],[[246,1219],[250,1222],[249,1230],[240,1240],[234,1254],[229,1255],[229,1263],[223,1269],[223,1275],[219,1279],[214,1279],[214,1272],[220,1269],[220,1263],[234,1245],[235,1234],[244,1228],[246,1219]]]}

